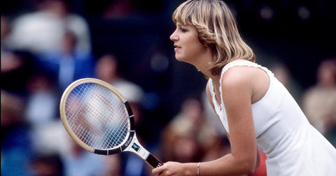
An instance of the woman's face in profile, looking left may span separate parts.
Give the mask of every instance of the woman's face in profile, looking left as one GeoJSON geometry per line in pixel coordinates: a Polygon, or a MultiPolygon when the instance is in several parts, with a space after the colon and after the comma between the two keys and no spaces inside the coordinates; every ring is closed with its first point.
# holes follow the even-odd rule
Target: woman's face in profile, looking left
{"type": "Polygon", "coordinates": [[[195,64],[193,62],[207,50],[200,42],[197,29],[193,25],[176,23],[176,30],[170,36],[170,40],[174,41],[176,59],[190,64],[195,64]]]}

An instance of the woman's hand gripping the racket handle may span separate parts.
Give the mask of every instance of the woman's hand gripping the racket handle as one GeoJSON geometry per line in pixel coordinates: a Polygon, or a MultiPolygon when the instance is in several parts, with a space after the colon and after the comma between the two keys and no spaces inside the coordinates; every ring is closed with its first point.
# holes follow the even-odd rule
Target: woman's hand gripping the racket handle
{"type": "Polygon", "coordinates": [[[184,166],[185,164],[183,163],[169,161],[159,168],[154,168],[152,173],[158,174],[159,176],[184,176],[187,171],[184,166]]]}

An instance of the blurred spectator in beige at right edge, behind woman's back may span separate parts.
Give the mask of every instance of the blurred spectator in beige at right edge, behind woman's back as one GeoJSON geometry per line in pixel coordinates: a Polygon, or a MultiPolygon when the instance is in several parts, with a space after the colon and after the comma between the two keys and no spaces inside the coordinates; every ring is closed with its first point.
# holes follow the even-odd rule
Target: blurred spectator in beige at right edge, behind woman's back
{"type": "Polygon", "coordinates": [[[304,92],[302,109],[322,134],[335,128],[336,59],[326,59],[318,66],[316,85],[304,92]]]}

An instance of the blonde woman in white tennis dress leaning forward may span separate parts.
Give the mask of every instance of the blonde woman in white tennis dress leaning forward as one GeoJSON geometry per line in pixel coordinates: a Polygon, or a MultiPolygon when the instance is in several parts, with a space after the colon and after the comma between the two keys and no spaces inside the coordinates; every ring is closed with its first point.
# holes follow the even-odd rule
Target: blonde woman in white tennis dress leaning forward
{"type": "Polygon", "coordinates": [[[336,175],[336,149],[309,124],[285,87],[241,39],[223,1],[189,0],[173,14],[175,57],[207,78],[207,96],[228,134],[231,153],[202,163],[167,162],[158,175],[336,175]]]}

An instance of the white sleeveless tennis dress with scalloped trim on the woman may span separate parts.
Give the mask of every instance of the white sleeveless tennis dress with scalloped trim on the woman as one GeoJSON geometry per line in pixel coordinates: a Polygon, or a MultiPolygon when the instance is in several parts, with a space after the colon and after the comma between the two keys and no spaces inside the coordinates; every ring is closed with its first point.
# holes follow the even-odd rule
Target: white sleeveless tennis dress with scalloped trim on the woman
{"type": "MultiPolygon", "coordinates": [[[[221,80],[223,73],[233,66],[260,68],[270,79],[265,96],[251,105],[257,145],[267,156],[267,175],[336,176],[335,147],[309,124],[299,105],[274,74],[251,61],[236,60],[225,65],[221,80]]],[[[221,104],[216,101],[211,79],[209,88],[215,111],[230,134],[225,102],[222,98],[221,104]]]]}

